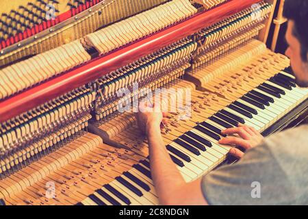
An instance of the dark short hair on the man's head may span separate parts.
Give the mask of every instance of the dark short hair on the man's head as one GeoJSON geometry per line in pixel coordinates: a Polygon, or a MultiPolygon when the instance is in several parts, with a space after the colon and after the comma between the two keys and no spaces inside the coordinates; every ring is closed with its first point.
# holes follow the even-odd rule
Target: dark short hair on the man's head
{"type": "Polygon", "coordinates": [[[283,14],[294,21],[293,35],[300,42],[302,60],[308,62],[308,0],[285,0],[283,14]]]}

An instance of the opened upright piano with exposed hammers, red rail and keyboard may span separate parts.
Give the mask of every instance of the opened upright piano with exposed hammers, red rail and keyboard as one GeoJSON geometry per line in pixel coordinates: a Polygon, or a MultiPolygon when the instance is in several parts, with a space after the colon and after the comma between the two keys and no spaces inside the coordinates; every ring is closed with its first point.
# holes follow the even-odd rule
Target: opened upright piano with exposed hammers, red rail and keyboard
{"type": "Polygon", "coordinates": [[[0,205],[158,205],[133,113],[142,99],[169,112],[164,146],[187,182],[226,161],[223,129],[263,132],[307,106],[290,60],[261,42],[272,1],[249,1],[257,18],[242,0],[42,0],[1,12],[0,105],[56,98],[24,101],[27,110],[1,120],[0,205]],[[176,27],[181,38],[165,46],[176,27]],[[140,47],[150,52],[132,60],[140,47]],[[121,66],[94,77],[94,63],[114,64],[114,54],[121,66]]]}

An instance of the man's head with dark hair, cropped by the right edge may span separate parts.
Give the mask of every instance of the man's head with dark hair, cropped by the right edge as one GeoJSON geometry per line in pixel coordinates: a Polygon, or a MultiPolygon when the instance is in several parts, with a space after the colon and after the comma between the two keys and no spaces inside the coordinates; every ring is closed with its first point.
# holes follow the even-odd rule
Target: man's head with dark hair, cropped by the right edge
{"type": "Polygon", "coordinates": [[[290,57],[298,85],[308,87],[308,1],[285,0],[284,16],[289,19],[285,54],[290,57]]]}

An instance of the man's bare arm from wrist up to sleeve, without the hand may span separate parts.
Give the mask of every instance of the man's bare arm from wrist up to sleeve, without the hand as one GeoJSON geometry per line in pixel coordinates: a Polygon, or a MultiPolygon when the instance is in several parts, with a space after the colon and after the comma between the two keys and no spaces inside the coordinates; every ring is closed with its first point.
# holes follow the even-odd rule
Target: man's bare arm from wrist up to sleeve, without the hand
{"type": "Polygon", "coordinates": [[[149,140],[152,178],[160,204],[207,205],[201,190],[201,178],[185,183],[181,173],[170,159],[159,125],[149,124],[146,131],[149,140]]]}

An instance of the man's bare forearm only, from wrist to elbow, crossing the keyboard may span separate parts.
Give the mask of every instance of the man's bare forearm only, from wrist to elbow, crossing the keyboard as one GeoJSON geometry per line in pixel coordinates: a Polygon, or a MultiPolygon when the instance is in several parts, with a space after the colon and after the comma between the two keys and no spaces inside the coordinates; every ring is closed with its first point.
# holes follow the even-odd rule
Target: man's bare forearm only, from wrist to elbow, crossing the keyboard
{"type": "Polygon", "coordinates": [[[164,145],[160,129],[158,126],[149,125],[146,130],[150,145],[151,172],[155,189],[162,204],[168,203],[168,198],[172,193],[182,185],[185,181],[177,166],[170,159],[170,155],[164,145]]]}

